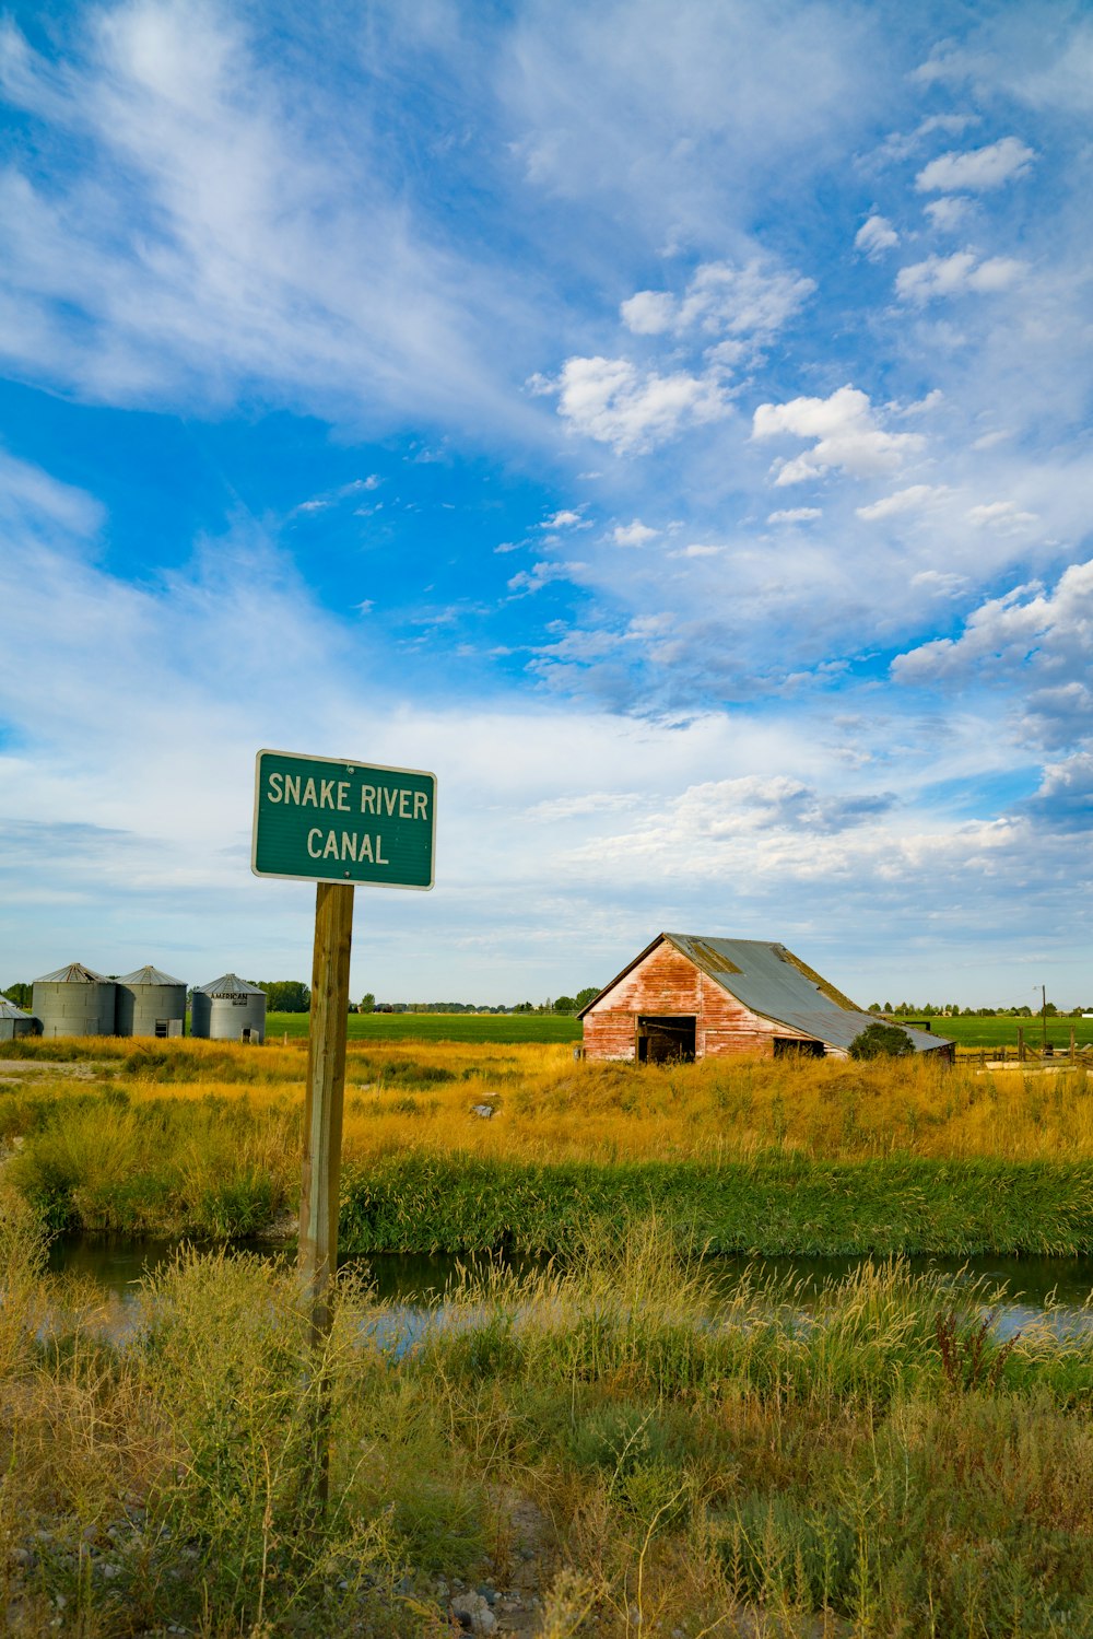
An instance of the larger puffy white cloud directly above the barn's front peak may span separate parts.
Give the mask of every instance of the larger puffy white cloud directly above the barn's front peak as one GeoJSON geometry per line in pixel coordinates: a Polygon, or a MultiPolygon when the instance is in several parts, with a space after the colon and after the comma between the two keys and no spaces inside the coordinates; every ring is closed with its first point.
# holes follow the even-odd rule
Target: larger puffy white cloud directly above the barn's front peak
{"type": "Polygon", "coordinates": [[[616,454],[639,454],[731,411],[714,380],[687,370],[642,374],[629,359],[567,359],[552,390],[569,428],[616,454]]]}

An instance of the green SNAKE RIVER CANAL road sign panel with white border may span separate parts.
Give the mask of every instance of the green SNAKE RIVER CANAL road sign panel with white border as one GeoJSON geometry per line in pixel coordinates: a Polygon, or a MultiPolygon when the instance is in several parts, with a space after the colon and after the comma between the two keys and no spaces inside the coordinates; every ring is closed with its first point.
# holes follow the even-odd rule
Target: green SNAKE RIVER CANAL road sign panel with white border
{"type": "Polygon", "coordinates": [[[256,757],[256,877],[431,888],[434,838],[434,774],[295,751],[256,757]]]}

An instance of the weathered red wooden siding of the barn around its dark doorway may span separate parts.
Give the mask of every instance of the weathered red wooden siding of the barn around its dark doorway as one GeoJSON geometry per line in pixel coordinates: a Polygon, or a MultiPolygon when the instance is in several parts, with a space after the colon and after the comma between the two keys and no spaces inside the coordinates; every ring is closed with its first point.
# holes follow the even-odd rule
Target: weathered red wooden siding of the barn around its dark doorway
{"type": "Polygon", "coordinates": [[[585,1054],[590,1059],[634,1059],[639,1013],[693,1013],[696,1059],[734,1052],[772,1057],[775,1036],[780,1041],[813,1039],[749,1011],[667,939],[585,1013],[585,1054]]]}

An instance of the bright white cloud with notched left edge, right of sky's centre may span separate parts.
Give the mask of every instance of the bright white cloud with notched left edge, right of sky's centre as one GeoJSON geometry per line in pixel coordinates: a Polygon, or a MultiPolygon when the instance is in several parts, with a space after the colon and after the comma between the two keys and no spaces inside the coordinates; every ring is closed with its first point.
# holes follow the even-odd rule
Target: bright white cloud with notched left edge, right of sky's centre
{"type": "Polygon", "coordinates": [[[839,387],[829,398],[791,398],[783,405],[760,405],[752,421],[752,438],[814,438],[814,446],[795,461],[775,464],[775,485],[803,484],[829,470],[865,479],[896,470],[916,454],[919,433],[885,433],[869,395],[857,387],[839,387]]]}

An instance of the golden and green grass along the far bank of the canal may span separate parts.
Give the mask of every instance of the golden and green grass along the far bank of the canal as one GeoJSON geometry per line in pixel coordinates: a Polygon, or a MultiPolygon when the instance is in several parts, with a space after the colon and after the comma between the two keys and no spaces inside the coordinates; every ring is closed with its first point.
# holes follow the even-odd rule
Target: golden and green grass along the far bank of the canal
{"type": "MultiPolygon", "coordinates": [[[[0,1054],[3,1175],[51,1231],[292,1233],[302,1044],[21,1052],[26,1067],[0,1054]]],[[[654,1213],[678,1247],[714,1252],[1093,1251],[1083,1069],[634,1069],[549,1046],[352,1046],[344,1155],[347,1252],[567,1252],[654,1213]]]]}

